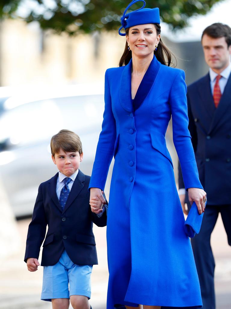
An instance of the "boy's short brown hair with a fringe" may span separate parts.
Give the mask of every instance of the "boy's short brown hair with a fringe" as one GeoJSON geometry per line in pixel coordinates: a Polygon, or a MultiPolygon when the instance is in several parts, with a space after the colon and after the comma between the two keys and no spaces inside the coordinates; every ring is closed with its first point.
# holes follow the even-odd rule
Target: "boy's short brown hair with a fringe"
{"type": "Polygon", "coordinates": [[[81,155],[83,153],[82,143],[77,134],[69,130],[60,130],[51,138],[51,154],[53,157],[63,149],[65,152],[77,152],[81,155]]]}

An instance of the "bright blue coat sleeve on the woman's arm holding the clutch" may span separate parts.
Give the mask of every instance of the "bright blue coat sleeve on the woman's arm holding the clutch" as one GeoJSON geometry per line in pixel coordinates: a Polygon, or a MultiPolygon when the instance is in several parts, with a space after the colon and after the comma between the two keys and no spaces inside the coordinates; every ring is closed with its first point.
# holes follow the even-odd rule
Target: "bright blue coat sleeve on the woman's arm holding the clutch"
{"type": "Polygon", "coordinates": [[[170,92],[173,142],[180,160],[185,189],[203,189],[199,180],[193,145],[188,130],[186,89],[184,71],[180,70],[170,92]]]}

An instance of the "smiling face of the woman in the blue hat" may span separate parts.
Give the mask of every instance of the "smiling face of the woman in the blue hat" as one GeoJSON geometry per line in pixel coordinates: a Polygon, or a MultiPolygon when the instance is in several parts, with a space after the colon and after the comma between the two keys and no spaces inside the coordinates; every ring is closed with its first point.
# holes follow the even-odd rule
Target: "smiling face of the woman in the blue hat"
{"type": "Polygon", "coordinates": [[[154,24],[148,23],[129,28],[126,38],[130,44],[132,56],[147,57],[154,52],[160,41],[160,34],[156,34],[154,24]]]}

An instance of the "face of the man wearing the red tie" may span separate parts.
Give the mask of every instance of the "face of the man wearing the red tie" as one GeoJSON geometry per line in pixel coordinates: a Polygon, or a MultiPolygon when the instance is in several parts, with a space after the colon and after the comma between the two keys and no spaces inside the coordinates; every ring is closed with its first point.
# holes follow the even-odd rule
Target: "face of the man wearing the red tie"
{"type": "Polygon", "coordinates": [[[204,49],[205,61],[217,73],[222,72],[229,65],[231,46],[225,42],[225,37],[212,38],[204,34],[201,40],[204,49]]]}

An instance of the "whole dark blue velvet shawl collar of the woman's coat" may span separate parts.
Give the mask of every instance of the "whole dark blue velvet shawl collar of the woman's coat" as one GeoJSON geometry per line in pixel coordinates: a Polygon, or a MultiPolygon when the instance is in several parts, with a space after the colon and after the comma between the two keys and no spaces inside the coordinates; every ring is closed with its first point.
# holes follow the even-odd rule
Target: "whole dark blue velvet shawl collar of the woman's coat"
{"type": "Polygon", "coordinates": [[[138,109],[140,105],[146,99],[148,93],[152,89],[152,86],[156,80],[156,77],[160,71],[161,64],[156,59],[155,55],[148,67],[148,70],[144,74],[144,77],[140,83],[140,86],[136,92],[136,96],[132,104],[132,90],[131,90],[131,79],[132,79],[132,59],[124,67],[123,73],[120,79],[120,103],[123,108],[128,112],[133,112],[138,109]],[[134,109],[133,109],[134,106],[134,109]]]}

